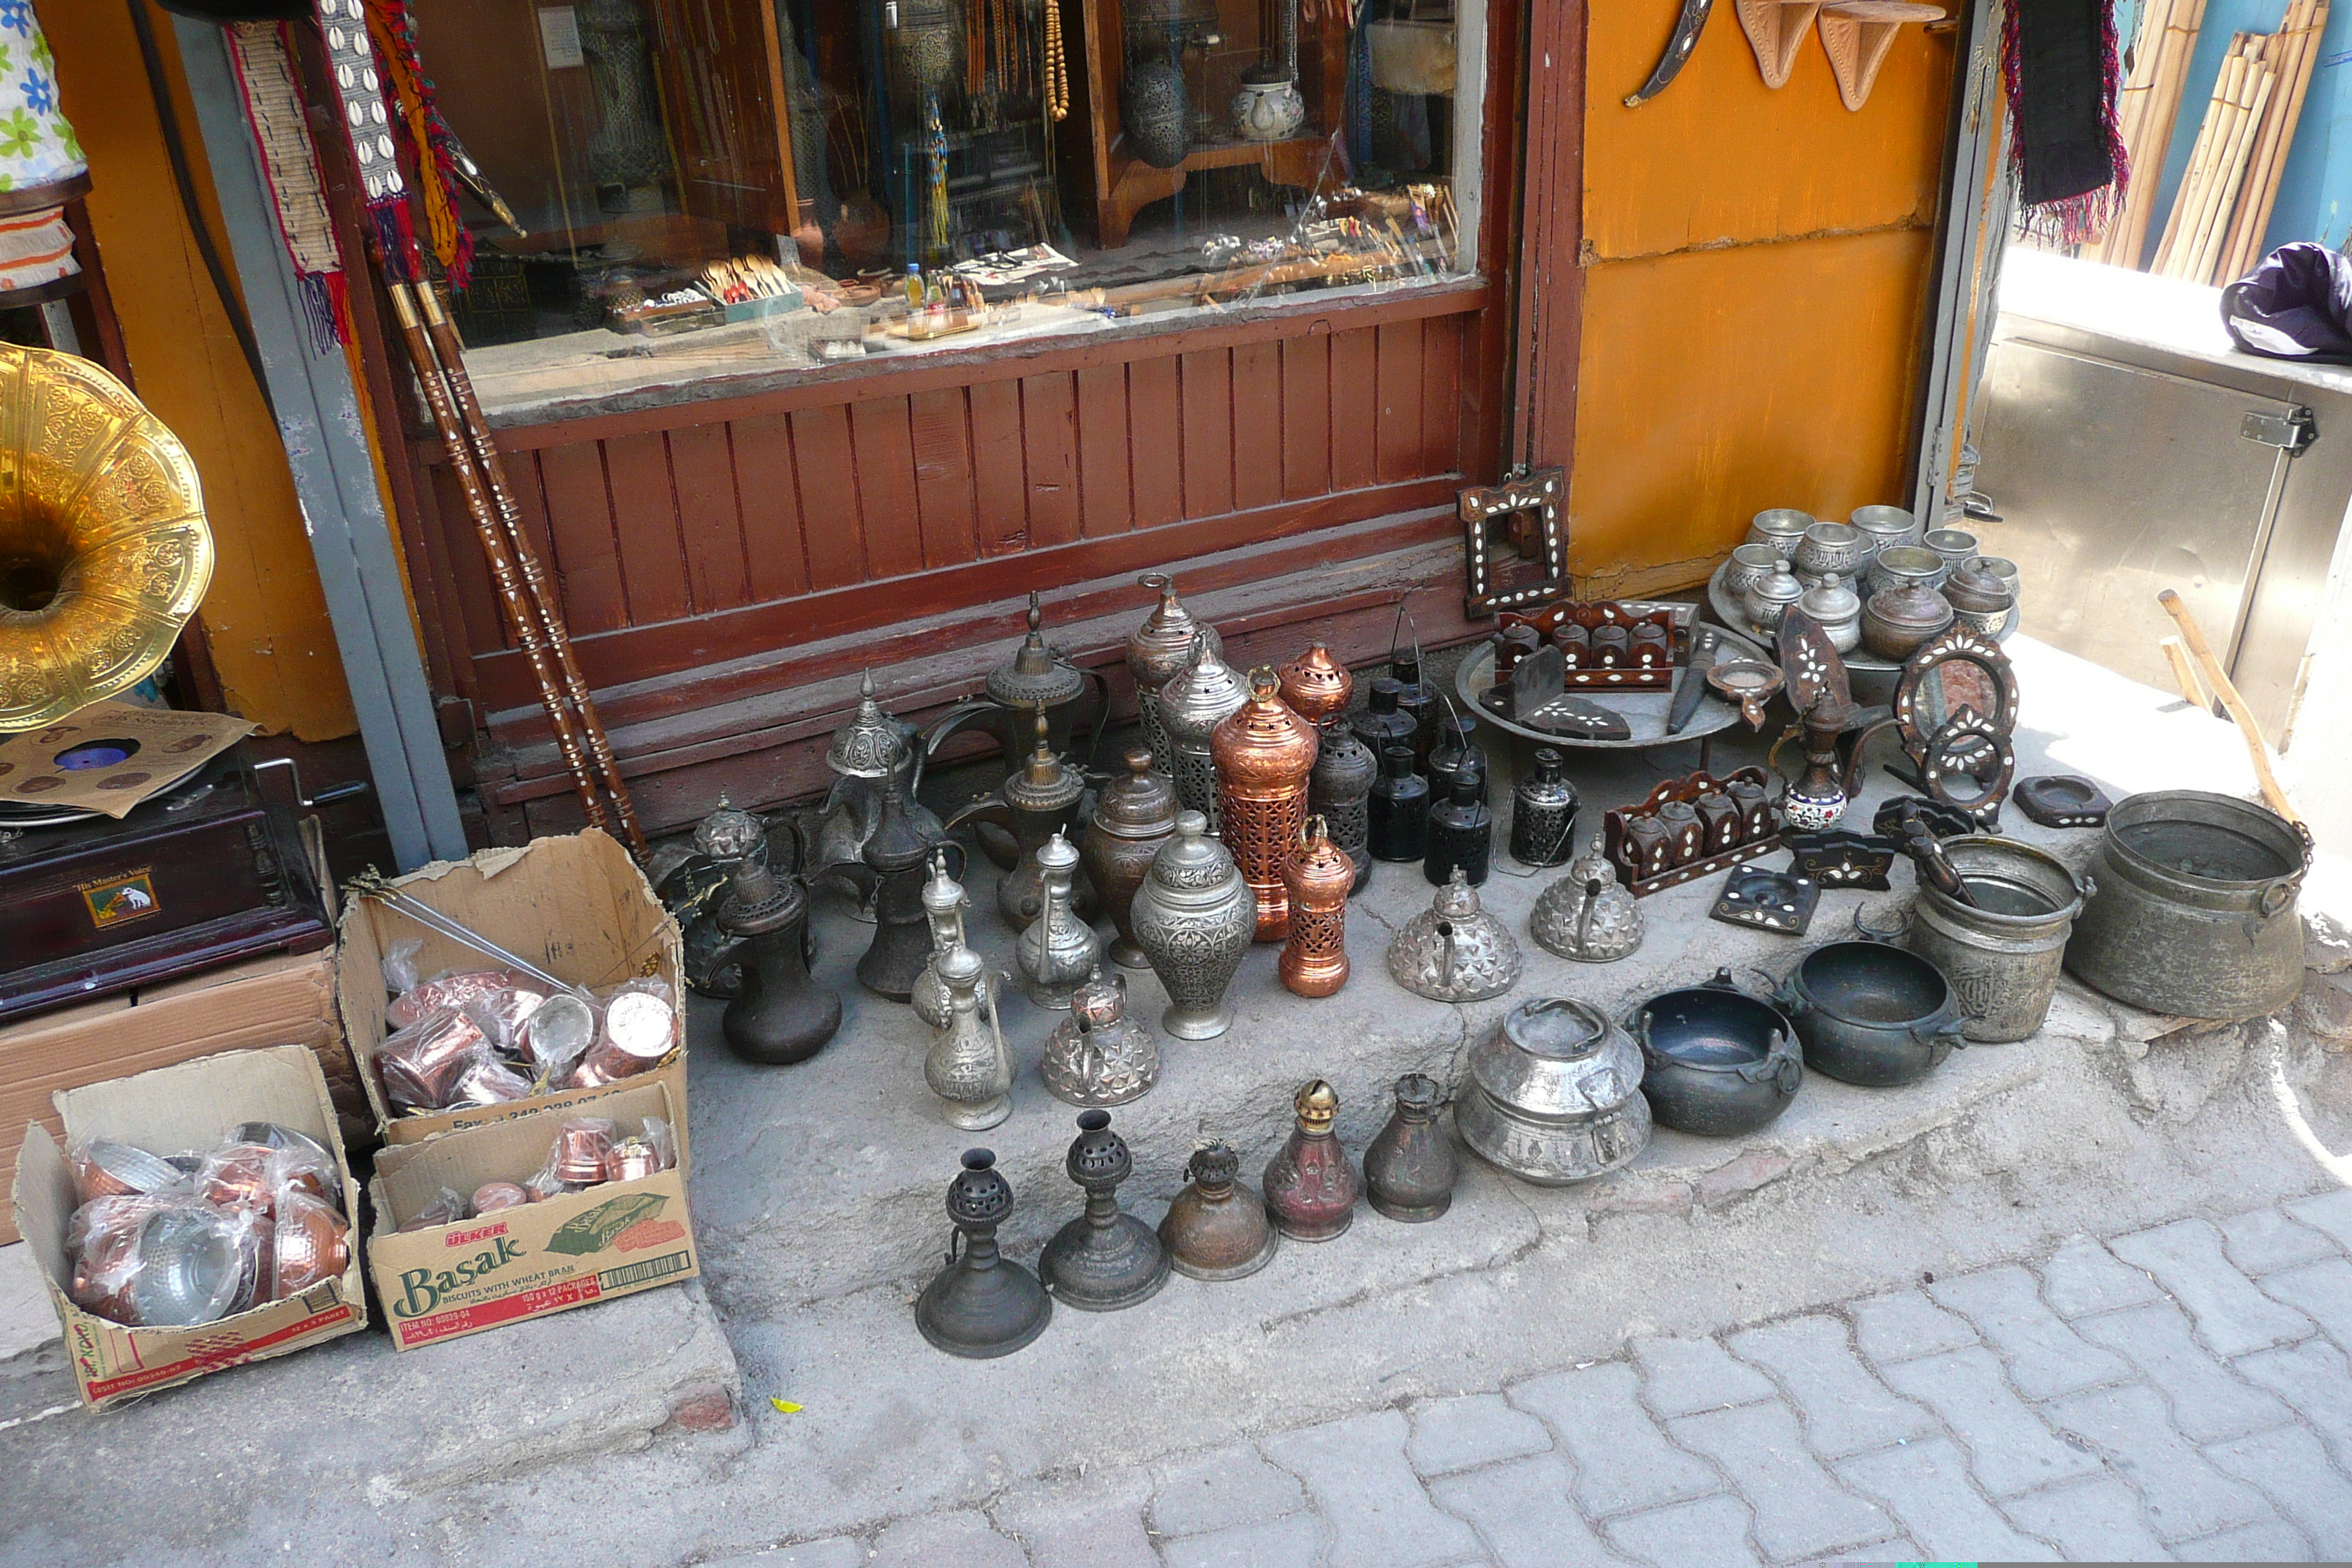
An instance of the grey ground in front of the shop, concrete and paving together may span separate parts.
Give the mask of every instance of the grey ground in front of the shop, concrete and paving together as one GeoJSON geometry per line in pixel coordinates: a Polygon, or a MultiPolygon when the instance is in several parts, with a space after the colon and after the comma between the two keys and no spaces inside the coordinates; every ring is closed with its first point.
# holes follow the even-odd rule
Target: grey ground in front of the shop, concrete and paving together
{"type": "MultiPolygon", "coordinates": [[[[2164,766],[2241,788],[2230,731],[2206,733],[2164,766]]],[[[1524,917],[1531,891],[1496,900],[1515,896],[1524,917]]],[[[1651,903],[1656,976],[1762,943],[1651,903]]],[[[2352,947],[2317,957],[2345,969],[2352,947]]],[[[1534,983],[1616,999],[1590,992],[1606,971],[1555,971],[1534,983]]],[[[1174,1190],[1185,1112],[1270,1098],[1244,1128],[1263,1157],[1296,1072],[1336,1058],[1359,1150],[1390,1048],[1451,1060],[1498,1013],[1418,1018],[1374,987],[1343,997],[1381,997],[1390,1044],[1284,1034],[1268,1011],[1171,1051],[1136,1107],[1167,1110],[1122,1121],[1157,1128],[1134,1208],[1174,1190]]],[[[1018,1356],[967,1363],[910,1324],[962,1147],[880,1107],[915,1048],[844,1034],[811,1067],[847,1077],[748,1079],[699,1013],[708,1309],[663,1291],[442,1347],[463,1359],[374,1352],[400,1385],[355,1338],[96,1420],[47,1415],[61,1373],[38,1354],[0,1361],[0,1561],[2352,1556],[2352,1199],[2314,1157],[2352,1150],[2352,1058],[2288,1018],[2180,1030],[2067,987],[2044,1037],[1912,1091],[1813,1079],[1764,1138],[1661,1138],[1585,1190],[1468,1161],[1435,1225],[1367,1213],[1258,1276],[1058,1312],[1018,1356]],[[793,1201],[809,1192],[833,1197],[793,1201]],[[696,1429],[630,1394],[607,1333],[630,1302],[687,1312],[630,1328],[647,1352],[724,1331],[741,1420],[696,1429]],[[468,1469],[477,1427],[553,1441],[468,1469]]],[[[1023,1262],[1075,1213],[1068,1135],[1035,1091],[990,1133],[1023,1262]]]]}

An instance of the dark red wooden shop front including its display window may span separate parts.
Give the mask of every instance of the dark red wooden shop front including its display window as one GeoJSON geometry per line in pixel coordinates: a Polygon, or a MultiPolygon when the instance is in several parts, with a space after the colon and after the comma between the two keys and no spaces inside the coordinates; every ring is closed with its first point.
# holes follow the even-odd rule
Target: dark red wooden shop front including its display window
{"type": "MultiPolygon", "coordinates": [[[[1162,0],[1148,26],[1138,0],[1127,21],[1065,0],[1058,122],[1040,0],[414,14],[442,113],[529,230],[463,205],[456,317],[647,830],[722,790],[821,790],[861,670],[920,719],[1007,654],[1030,590],[1120,703],[1145,571],[1174,571],[1237,658],[1287,656],[1310,623],[1345,658],[1383,654],[1399,602],[1423,642],[1468,632],[1454,498],[1505,465],[1519,0],[1369,0],[1352,24],[1341,2],[1162,0]],[[1228,103],[1244,71],[1279,73],[1287,16],[1303,120],[1247,141],[1228,103]],[[1421,54],[1369,61],[1367,31],[1421,54]],[[630,38],[635,127],[659,134],[616,150],[630,38]],[[1350,52],[1371,82],[1446,92],[1359,80],[1378,125],[1350,136],[1350,52]],[[1185,78],[1176,167],[1136,153],[1155,127],[1134,85],[1122,110],[1122,71],[1185,78]],[[750,256],[804,261],[802,308],[663,315],[699,268],[750,256]],[[1040,256],[978,296],[974,266],[953,270],[1040,256]],[[908,261],[957,289],[948,324],[981,324],[920,336],[946,313],[901,303],[908,261]],[[828,282],[840,310],[807,308],[828,282]],[[875,350],[818,350],[840,315],[875,350]]],[[[350,190],[329,195],[358,244],[350,190]]],[[[473,743],[492,837],[569,827],[539,686],[381,296],[355,317],[445,733],[473,743]]]]}

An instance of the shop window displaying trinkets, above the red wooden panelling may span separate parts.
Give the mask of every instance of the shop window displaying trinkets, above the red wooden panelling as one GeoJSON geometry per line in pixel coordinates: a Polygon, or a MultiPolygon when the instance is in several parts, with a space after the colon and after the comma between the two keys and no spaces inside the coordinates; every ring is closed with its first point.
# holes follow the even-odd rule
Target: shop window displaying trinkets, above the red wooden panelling
{"type": "Polygon", "coordinates": [[[515,216],[468,364],[527,414],[1461,277],[1479,5],[414,0],[515,216]]]}

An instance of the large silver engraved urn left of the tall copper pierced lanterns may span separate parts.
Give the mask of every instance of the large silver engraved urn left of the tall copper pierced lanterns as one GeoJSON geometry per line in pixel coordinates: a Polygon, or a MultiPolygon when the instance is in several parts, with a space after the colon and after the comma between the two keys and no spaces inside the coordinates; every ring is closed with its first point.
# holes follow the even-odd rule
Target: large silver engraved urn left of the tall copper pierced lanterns
{"type": "Polygon", "coordinates": [[[1160,1027],[1176,1039],[1214,1039],[1232,1027],[1225,987],[1256,933],[1258,898],[1200,811],[1176,813],[1176,837],[1136,889],[1134,924],[1169,994],[1160,1027]]]}

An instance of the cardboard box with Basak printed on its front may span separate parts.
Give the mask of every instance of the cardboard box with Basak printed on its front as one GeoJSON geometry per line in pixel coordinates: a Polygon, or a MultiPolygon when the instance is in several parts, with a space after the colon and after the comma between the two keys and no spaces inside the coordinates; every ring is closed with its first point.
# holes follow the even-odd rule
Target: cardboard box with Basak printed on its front
{"type": "Polygon", "coordinates": [[[529,1180],[572,1117],[609,1117],[621,1135],[637,1135],[647,1117],[675,1128],[682,1110],[670,1084],[640,1077],[590,1107],[543,1107],[386,1150],[369,1182],[376,1234],[367,1241],[367,1267],[393,1345],[416,1349],[701,1274],[684,1171],[602,1182],[480,1220],[400,1229],[442,1187],[470,1197],[482,1182],[529,1180]]]}

